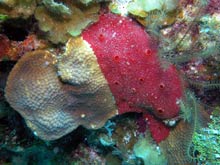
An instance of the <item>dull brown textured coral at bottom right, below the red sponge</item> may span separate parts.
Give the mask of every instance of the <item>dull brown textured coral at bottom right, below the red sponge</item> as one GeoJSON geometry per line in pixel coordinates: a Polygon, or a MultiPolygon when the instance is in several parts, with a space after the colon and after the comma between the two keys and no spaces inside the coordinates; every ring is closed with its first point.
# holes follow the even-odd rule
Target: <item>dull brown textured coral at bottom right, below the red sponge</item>
{"type": "Polygon", "coordinates": [[[168,138],[159,144],[169,164],[195,163],[192,140],[196,132],[205,127],[209,121],[208,113],[198,104],[193,93],[186,90],[184,97],[184,101],[180,103],[184,120],[179,121],[170,131],[168,138]]]}

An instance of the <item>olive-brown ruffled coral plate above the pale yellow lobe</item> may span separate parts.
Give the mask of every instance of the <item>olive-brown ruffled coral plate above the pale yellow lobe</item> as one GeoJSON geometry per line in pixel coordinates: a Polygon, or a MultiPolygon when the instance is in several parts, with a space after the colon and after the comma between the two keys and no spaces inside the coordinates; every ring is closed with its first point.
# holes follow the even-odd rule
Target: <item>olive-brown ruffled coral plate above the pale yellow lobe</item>
{"type": "Polygon", "coordinates": [[[37,7],[35,11],[39,28],[47,33],[48,39],[53,43],[65,43],[71,36],[80,35],[84,28],[98,20],[98,4],[88,5],[83,9],[80,9],[80,5],[75,2],[69,1],[67,5],[70,13],[65,15],[56,8],[48,11],[44,6],[37,7]]]}

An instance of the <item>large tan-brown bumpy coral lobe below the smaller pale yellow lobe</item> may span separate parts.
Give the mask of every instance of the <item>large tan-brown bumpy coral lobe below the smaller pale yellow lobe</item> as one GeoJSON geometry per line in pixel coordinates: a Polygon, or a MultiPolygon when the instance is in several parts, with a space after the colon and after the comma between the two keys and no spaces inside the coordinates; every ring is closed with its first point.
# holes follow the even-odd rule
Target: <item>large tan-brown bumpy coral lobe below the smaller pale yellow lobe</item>
{"type": "MultiPolygon", "coordinates": [[[[74,61],[74,54],[68,56],[74,61]]],[[[79,125],[100,128],[117,114],[114,99],[102,75],[97,77],[103,81],[97,83],[95,91],[85,90],[80,83],[62,82],[57,76],[56,63],[57,57],[47,51],[30,52],[18,61],[8,77],[6,99],[37,136],[55,140],[79,125]]]]}

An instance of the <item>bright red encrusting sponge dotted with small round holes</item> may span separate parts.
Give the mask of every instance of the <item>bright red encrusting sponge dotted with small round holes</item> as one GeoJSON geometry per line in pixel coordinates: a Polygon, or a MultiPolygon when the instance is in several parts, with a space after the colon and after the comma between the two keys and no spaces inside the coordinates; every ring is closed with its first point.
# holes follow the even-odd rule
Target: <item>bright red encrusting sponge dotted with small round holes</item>
{"type": "Polygon", "coordinates": [[[177,70],[160,66],[156,46],[141,26],[127,17],[102,14],[82,36],[97,56],[119,114],[151,106],[159,118],[178,115],[182,85],[177,70]]]}

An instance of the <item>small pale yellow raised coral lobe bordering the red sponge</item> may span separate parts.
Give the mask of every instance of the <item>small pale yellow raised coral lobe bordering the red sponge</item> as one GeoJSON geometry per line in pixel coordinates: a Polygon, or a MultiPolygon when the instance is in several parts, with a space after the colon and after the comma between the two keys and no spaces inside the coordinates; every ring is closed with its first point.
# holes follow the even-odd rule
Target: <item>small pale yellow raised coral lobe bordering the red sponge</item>
{"type": "Polygon", "coordinates": [[[87,92],[94,92],[107,84],[90,44],[82,37],[67,42],[66,52],[57,66],[62,81],[83,85],[87,92]]]}

